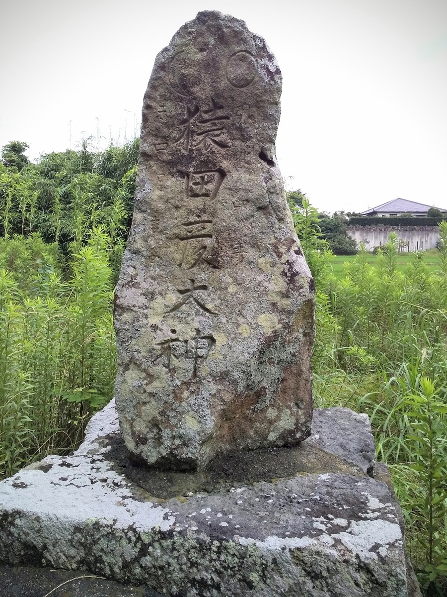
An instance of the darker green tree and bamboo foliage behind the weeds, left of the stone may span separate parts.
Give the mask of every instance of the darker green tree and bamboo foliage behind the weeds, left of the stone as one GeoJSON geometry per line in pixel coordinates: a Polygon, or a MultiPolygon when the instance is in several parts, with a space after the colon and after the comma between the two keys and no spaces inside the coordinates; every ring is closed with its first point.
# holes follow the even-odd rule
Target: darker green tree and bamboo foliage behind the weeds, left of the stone
{"type": "MultiPolygon", "coordinates": [[[[27,145],[13,141],[5,147],[4,156],[19,156],[27,145]]],[[[86,140],[77,151],[48,153],[38,164],[26,162],[21,168],[4,158],[0,234],[39,233],[45,242],[56,242],[67,260],[71,245],[79,251],[101,226],[116,278],[132,221],[137,158],[137,140],[100,153],[90,150],[86,140]]]]}

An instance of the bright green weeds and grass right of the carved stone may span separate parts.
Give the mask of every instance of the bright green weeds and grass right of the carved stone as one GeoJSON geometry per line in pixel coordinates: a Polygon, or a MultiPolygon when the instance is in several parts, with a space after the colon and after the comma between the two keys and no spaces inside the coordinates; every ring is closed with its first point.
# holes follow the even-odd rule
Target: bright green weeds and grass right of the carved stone
{"type": "MultiPolygon", "coordinates": [[[[306,212],[315,226],[303,202],[293,213],[299,235],[312,231],[303,223],[306,212]]],[[[316,405],[370,416],[377,458],[390,467],[427,597],[447,588],[446,221],[439,232],[439,251],[399,253],[392,232],[377,254],[362,246],[339,263],[306,238],[317,290],[316,405]]],[[[313,243],[321,242],[315,229],[313,243]]]]}

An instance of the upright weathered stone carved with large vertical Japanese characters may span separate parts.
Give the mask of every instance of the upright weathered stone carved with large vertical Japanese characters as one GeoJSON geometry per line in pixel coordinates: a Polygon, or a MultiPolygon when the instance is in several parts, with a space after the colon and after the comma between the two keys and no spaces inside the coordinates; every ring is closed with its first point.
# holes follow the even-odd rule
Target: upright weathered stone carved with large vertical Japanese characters
{"type": "Polygon", "coordinates": [[[116,291],[128,450],[195,469],[310,435],[314,291],[275,159],[281,73],[206,11],[157,56],[116,291]]]}

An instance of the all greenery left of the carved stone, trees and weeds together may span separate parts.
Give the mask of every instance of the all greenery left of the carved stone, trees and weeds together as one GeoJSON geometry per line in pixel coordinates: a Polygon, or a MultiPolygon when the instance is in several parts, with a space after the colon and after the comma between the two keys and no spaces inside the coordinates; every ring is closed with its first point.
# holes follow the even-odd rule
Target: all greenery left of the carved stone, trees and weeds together
{"type": "Polygon", "coordinates": [[[0,164],[0,478],[83,438],[113,397],[111,305],[132,214],[137,143],[0,164]]]}

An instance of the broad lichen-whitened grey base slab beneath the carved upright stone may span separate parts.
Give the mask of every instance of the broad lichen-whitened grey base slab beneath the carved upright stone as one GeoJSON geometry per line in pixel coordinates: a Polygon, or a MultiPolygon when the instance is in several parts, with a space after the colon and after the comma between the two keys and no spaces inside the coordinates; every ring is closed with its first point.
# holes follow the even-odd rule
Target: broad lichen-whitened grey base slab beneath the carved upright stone
{"type": "MultiPolygon", "coordinates": [[[[45,458],[0,484],[0,559],[182,597],[416,597],[392,491],[364,473],[353,450],[343,459],[315,445],[338,450],[330,438],[343,435],[337,421],[349,411],[330,411],[316,411],[318,433],[300,447],[271,450],[315,450],[319,470],[265,480],[267,461],[264,480],[156,498],[113,457],[111,402],[73,456],[45,458]]],[[[367,418],[352,417],[350,433],[372,461],[367,418]]]]}

